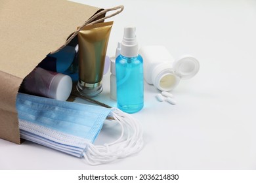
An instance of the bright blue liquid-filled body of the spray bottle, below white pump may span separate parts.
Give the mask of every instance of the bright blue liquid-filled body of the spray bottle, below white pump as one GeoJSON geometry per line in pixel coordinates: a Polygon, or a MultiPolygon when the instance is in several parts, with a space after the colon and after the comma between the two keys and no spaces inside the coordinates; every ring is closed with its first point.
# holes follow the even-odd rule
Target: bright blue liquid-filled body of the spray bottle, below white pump
{"type": "Polygon", "coordinates": [[[116,58],[117,107],[135,113],[144,105],[143,59],[119,55],[116,58]]]}

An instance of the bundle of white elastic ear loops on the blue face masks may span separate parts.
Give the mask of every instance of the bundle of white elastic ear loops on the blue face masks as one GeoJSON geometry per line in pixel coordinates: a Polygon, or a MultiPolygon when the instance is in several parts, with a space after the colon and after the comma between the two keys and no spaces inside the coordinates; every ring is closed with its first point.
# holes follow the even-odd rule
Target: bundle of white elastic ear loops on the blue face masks
{"type": "Polygon", "coordinates": [[[139,152],[143,147],[142,127],[137,120],[117,108],[112,108],[110,116],[121,125],[121,135],[116,141],[103,146],[89,143],[83,156],[90,165],[100,165],[125,158],[139,152]]]}

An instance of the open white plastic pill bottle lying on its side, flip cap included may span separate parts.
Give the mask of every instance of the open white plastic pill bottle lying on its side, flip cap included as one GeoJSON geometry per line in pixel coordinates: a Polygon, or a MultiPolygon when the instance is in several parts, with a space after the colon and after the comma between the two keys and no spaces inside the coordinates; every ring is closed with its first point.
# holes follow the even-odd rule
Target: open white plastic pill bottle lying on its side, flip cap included
{"type": "Polygon", "coordinates": [[[200,64],[192,56],[175,59],[164,46],[144,46],[140,48],[144,59],[144,79],[161,91],[171,91],[181,79],[192,78],[199,71],[200,64]]]}

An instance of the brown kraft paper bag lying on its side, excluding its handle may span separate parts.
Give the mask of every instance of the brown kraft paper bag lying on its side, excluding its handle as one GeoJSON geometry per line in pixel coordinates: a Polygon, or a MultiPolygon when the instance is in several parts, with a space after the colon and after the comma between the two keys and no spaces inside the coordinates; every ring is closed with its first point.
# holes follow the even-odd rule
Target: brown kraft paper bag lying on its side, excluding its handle
{"type": "Polygon", "coordinates": [[[16,94],[23,78],[100,10],[64,0],[0,0],[0,138],[20,144],[16,94]]]}

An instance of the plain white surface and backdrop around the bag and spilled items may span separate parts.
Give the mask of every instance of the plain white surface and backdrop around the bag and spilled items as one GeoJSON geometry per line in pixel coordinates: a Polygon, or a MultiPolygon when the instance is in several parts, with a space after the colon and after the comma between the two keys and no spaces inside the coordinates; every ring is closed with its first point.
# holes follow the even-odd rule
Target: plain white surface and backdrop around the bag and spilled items
{"type": "MultiPolygon", "coordinates": [[[[135,25],[139,46],[160,44],[174,58],[192,54],[199,73],[173,90],[177,105],[160,103],[144,83],[144,108],[132,114],[144,129],[134,156],[90,166],[83,159],[26,141],[0,139],[0,169],[256,169],[256,1],[80,1],[95,7],[124,5],[114,20],[108,56],[123,27],[135,25]]],[[[110,73],[96,99],[110,99],[110,73]]],[[[112,139],[102,129],[96,144],[112,139]]]]}

